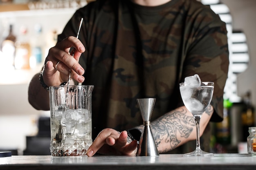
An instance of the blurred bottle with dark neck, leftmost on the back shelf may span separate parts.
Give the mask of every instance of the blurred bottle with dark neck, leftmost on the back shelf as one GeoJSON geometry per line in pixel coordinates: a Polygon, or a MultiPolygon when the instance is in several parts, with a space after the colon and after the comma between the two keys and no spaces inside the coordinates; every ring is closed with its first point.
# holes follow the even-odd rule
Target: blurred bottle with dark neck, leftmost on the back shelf
{"type": "Polygon", "coordinates": [[[13,35],[13,26],[9,27],[9,34],[2,42],[2,52],[4,54],[4,61],[7,68],[14,68],[15,57],[15,42],[16,36],[13,35]]]}

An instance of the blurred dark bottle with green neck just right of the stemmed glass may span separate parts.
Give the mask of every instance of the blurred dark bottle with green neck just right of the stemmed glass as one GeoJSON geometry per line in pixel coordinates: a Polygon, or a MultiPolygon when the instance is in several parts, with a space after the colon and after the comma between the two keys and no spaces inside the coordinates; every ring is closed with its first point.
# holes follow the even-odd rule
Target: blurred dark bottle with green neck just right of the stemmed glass
{"type": "Polygon", "coordinates": [[[232,103],[229,99],[223,102],[223,121],[216,123],[216,142],[222,145],[231,144],[231,130],[230,130],[230,108],[232,103]]]}

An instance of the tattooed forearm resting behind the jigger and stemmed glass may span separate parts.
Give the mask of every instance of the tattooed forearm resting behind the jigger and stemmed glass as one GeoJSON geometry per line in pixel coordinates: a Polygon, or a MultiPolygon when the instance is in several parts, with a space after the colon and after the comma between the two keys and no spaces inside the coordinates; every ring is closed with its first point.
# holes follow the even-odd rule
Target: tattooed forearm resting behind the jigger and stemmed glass
{"type": "MultiPolygon", "coordinates": [[[[210,105],[207,107],[205,113],[209,120],[213,113],[213,106],[210,105]]],[[[205,124],[208,124],[208,122],[205,124]]],[[[142,132],[143,127],[144,126],[141,125],[136,128],[142,132]]],[[[182,106],[152,121],[150,127],[158,151],[164,153],[173,150],[186,141],[194,139],[191,133],[195,132],[195,119],[193,115],[182,106]]]]}

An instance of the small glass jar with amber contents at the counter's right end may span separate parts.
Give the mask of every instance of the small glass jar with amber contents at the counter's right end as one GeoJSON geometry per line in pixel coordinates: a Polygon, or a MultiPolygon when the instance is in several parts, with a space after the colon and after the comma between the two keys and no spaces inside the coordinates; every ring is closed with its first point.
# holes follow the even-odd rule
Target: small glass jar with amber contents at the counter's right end
{"type": "Polygon", "coordinates": [[[249,136],[247,137],[248,154],[256,156],[256,127],[249,127],[249,136]]]}

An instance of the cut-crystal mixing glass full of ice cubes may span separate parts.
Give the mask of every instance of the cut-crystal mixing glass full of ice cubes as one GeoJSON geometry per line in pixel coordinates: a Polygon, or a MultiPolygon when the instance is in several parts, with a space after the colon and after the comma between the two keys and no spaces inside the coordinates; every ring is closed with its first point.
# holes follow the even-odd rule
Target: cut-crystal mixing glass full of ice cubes
{"type": "Polygon", "coordinates": [[[52,156],[84,156],[92,144],[93,86],[51,86],[52,156]]]}

